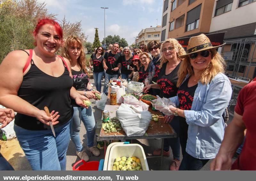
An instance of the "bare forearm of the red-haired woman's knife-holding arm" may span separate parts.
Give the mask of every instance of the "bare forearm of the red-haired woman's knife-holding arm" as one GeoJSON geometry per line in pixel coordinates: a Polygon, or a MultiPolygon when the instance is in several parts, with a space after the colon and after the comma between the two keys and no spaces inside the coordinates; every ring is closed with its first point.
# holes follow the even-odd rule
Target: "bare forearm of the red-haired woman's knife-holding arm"
{"type": "Polygon", "coordinates": [[[13,109],[15,112],[25,114],[28,116],[36,117],[36,113],[39,110],[35,106],[31,105],[24,99],[21,99],[17,95],[5,95],[0,98],[0,104],[6,108],[13,109]]]}

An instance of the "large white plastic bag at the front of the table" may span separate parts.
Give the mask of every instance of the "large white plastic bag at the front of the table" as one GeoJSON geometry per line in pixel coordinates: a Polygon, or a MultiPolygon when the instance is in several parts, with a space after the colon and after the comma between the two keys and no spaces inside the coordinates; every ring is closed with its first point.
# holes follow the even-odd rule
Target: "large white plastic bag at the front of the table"
{"type": "Polygon", "coordinates": [[[144,110],[141,114],[132,110],[129,105],[121,104],[116,111],[116,117],[127,136],[142,136],[148,130],[148,124],[152,119],[150,112],[144,110]]]}

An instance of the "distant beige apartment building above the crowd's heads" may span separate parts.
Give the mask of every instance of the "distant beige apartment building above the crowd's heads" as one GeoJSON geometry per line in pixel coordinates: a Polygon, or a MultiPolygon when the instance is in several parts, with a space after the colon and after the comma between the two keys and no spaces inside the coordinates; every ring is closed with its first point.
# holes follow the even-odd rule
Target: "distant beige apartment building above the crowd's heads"
{"type": "Polygon", "coordinates": [[[142,29],[138,34],[138,43],[148,44],[149,41],[160,41],[161,26],[142,29]]]}

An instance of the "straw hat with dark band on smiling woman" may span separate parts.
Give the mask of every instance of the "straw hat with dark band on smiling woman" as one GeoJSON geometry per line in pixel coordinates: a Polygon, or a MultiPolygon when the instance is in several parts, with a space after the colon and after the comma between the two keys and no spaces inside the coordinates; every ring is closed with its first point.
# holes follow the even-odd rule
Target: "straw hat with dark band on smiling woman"
{"type": "MultiPolygon", "coordinates": [[[[226,43],[223,43],[222,45],[224,44],[226,43]]],[[[215,48],[221,47],[222,45],[213,47],[210,39],[205,34],[192,36],[188,42],[187,54],[180,55],[179,58],[185,58],[191,53],[196,53],[196,52],[207,50],[207,49],[215,49],[215,48]]]]}

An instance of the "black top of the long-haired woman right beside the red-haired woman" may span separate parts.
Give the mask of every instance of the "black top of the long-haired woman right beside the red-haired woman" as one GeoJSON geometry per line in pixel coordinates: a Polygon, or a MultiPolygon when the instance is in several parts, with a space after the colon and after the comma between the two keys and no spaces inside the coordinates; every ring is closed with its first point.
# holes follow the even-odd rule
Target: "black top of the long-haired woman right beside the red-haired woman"
{"type": "MultiPolygon", "coordinates": [[[[84,70],[75,71],[71,69],[72,79],[73,79],[73,87],[75,87],[78,91],[87,91],[87,85],[89,83],[89,76],[84,70]]],[[[76,104],[74,99],[71,99],[71,104],[75,107],[80,107],[76,104]]]]}

